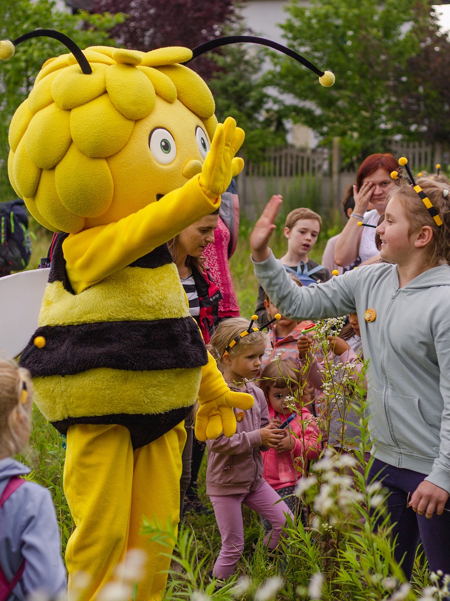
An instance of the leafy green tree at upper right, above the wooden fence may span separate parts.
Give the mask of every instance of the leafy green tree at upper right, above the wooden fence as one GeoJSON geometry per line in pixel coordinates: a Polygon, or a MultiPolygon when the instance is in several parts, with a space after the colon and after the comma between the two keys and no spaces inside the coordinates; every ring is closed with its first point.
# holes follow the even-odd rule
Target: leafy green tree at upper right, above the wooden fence
{"type": "Polygon", "coordinates": [[[319,69],[332,70],[336,82],[323,88],[292,59],[274,56],[272,83],[295,97],[283,103],[281,114],[311,127],[327,144],[339,136],[347,162],[388,150],[393,135],[411,139],[412,130],[428,127],[431,112],[448,111],[448,100],[446,108],[442,102],[447,72],[433,81],[436,102],[421,102],[415,123],[410,120],[407,99],[418,91],[418,73],[424,88],[432,79],[429,65],[413,58],[429,46],[430,32],[435,44],[439,39],[439,56],[449,53],[427,1],[311,0],[308,7],[292,1],[288,12],[282,26],[287,45],[319,69]]]}

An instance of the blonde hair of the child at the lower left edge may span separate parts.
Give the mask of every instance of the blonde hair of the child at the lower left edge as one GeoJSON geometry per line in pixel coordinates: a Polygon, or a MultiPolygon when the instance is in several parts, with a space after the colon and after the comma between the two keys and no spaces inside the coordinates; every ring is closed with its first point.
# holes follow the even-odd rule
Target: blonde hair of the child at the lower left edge
{"type": "Polygon", "coordinates": [[[20,414],[31,419],[32,384],[29,372],[13,361],[0,359],[0,456],[20,453],[17,435],[20,414]]]}

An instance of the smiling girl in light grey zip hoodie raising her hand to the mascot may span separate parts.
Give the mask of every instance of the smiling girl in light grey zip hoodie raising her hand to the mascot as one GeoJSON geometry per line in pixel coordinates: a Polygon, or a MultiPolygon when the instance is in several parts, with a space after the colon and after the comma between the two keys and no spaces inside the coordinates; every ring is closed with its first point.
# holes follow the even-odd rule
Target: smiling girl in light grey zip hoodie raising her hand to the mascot
{"type": "Polygon", "coordinates": [[[268,248],[280,205],[271,198],[250,236],[256,276],[284,316],[358,314],[371,476],[391,493],[395,557],[410,578],[421,538],[430,569],[450,573],[450,186],[395,188],[377,227],[388,263],[303,288],[268,248]]]}

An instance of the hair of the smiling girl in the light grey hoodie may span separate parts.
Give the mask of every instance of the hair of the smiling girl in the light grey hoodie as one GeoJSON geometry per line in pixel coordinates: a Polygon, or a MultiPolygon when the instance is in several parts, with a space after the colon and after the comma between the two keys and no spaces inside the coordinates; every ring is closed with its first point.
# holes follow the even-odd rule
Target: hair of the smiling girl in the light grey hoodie
{"type": "Polygon", "coordinates": [[[416,184],[422,188],[437,210],[442,225],[436,224],[422,199],[406,182],[394,188],[388,198],[395,196],[400,200],[410,224],[409,236],[420,230],[423,225],[429,225],[433,230],[433,238],[427,246],[427,263],[431,266],[450,263],[450,185],[428,177],[419,178],[416,184]]]}

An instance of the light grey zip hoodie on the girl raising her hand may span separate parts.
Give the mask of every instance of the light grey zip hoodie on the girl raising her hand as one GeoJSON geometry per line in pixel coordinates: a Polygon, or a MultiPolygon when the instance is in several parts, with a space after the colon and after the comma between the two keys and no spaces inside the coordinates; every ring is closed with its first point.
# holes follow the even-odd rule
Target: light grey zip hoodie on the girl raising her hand
{"type": "Polygon", "coordinates": [[[254,270],[275,307],[293,319],[358,314],[368,364],[372,454],[427,474],[450,493],[450,266],[399,288],[397,266],[358,267],[299,288],[271,253],[254,270]],[[375,319],[365,314],[373,309],[375,319]]]}

